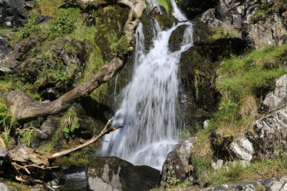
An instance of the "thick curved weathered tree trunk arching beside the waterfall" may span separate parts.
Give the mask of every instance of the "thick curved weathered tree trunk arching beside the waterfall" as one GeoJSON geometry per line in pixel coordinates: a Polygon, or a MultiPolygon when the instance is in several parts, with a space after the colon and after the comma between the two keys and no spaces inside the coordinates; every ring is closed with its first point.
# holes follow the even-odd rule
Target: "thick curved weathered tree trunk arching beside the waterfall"
{"type": "MultiPolygon", "coordinates": [[[[78,3],[81,8],[87,8],[99,0],[73,1],[78,3]]],[[[40,116],[55,115],[70,107],[77,99],[91,94],[97,87],[109,81],[121,70],[124,66],[123,56],[131,50],[129,46],[146,5],[144,0],[118,0],[116,3],[123,4],[130,8],[129,18],[124,26],[124,35],[118,41],[118,57],[114,58],[109,64],[104,65],[95,76],[49,103],[34,103],[26,93],[17,91],[10,92],[6,96],[7,102],[11,106],[10,109],[13,116],[18,121],[29,121],[40,116]]]]}

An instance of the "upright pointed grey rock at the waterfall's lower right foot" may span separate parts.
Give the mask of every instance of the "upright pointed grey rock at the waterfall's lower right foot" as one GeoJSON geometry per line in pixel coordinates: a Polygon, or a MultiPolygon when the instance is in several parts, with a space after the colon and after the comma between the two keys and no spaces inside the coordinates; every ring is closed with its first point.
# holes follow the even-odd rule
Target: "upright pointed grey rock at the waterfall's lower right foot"
{"type": "Polygon", "coordinates": [[[190,167],[191,149],[196,137],[191,137],[177,144],[170,153],[162,167],[161,185],[164,186],[167,180],[168,171],[173,172],[175,178],[184,180],[187,177],[190,167]]]}

